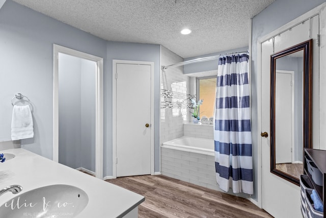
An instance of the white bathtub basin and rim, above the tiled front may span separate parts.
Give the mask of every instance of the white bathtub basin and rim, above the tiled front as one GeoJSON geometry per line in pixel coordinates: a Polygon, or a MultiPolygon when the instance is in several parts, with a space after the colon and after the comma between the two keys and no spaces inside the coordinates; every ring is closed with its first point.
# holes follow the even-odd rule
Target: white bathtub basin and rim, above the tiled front
{"type": "Polygon", "coordinates": [[[161,147],[214,156],[214,140],[212,139],[183,136],[164,142],[161,147]]]}

